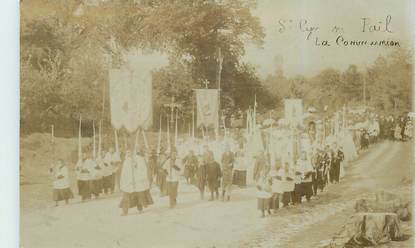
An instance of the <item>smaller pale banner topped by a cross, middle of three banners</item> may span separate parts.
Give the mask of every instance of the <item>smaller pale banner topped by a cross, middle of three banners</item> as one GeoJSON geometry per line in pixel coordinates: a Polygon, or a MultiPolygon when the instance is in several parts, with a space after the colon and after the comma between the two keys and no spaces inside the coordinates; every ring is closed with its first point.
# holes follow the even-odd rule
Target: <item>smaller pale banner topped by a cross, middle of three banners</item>
{"type": "Polygon", "coordinates": [[[197,89],[197,126],[214,127],[219,123],[219,90],[197,89]]]}

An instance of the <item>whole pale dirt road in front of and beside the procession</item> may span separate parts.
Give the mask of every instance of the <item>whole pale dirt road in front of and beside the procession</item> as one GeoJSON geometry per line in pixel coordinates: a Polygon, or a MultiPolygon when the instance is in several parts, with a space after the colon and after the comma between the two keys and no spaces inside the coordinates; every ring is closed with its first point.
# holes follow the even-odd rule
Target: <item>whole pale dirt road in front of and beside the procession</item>
{"type": "MultiPolygon", "coordinates": [[[[410,143],[384,142],[350,164],[346,177],[311,203],[261,219],[255,189],[235,189],[231,202],[199,200],[181,183],[178,206],[154,192],[143,214],[120,216],[119,196],[67,206],[22,209],[21,244],[49,247],[318,247],[337,232],[355,199],[411,178],[410,143]]],[[[51,205],[53,203],[51,202],[51,205]]],[[[410,240],[412,242],[412,240],[410,240]]],[[[409,244],[405,242],[405,244],[409,244]]]]}

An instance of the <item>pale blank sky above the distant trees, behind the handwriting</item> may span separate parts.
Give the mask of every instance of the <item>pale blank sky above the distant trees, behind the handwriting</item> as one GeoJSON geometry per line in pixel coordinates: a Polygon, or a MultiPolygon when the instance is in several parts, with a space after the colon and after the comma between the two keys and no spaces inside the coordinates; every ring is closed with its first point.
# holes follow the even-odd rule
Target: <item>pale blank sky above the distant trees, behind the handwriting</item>
{"type": "Polygon", "coordinates": [[[287,76],[311,76],[328,67],[344,70],[350,64],[363,68],[370,66],[379,55],[393,50],[378,46],[339,46],[336,44],[339,35],[347,41],[393,40],[402,47],[413,48],[413,0],[257,1],[253,14],[259,18],[266,36],[262,47],[246,44],[244,61],[256,66],[262,78],[274,73],[278,65],[287,76]],[[373,24],[383,32],[370,32],[373,24]],[[334,26],[338,27],[337,32],[333,32],[334,26]],[[307,39],[307,30],[313,27],[307,39]],[[317,46],[316,38],[319,44],[327,40],[330,46],[317,46]]]}

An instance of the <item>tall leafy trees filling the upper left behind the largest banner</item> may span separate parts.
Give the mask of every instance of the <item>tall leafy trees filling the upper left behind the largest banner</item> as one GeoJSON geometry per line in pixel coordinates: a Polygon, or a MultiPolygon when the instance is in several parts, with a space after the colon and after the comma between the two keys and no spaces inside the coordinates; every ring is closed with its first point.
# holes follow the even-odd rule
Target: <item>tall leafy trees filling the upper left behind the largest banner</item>
{"type": "Polygon", "coordinates": [[[68,113],[98,113],[108,68],[121,66],[123,54],[133,48],[169,55],[170,65],[154,74],[161,101],[174,95],[189,106],[191,89],[203,80],[217,87],[219,48],[225,58],[224,107],[246,106],[250,92],[233,89],[260,88],[255,70],[241,62],[245,42],[260,44],[264,37],[250,12],[254,1],[112,0],[88,5],[32,0],[21,5],[22,129],[29,120],[40,122],[35,130],[45,131],[43,127],[68,113]],[[56,118],[29,114],[34,110],[54,110],[56,118]]]}

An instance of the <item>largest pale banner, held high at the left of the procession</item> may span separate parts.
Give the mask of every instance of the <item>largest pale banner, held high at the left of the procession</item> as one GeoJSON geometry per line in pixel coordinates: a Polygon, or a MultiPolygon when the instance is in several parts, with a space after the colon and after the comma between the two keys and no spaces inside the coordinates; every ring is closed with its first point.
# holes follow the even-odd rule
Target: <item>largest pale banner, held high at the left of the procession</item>
{"type": "Polygon", "coordinates": [[[127,68],[110,70],[111,123],[134,132],[152,125],[151,74],[127,68]]]}

